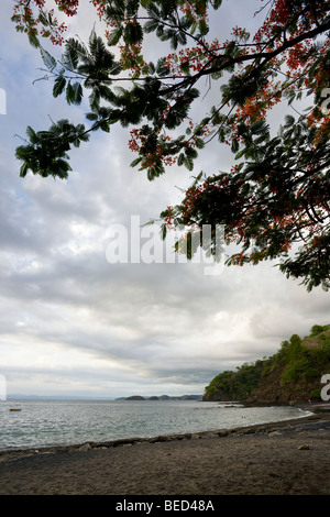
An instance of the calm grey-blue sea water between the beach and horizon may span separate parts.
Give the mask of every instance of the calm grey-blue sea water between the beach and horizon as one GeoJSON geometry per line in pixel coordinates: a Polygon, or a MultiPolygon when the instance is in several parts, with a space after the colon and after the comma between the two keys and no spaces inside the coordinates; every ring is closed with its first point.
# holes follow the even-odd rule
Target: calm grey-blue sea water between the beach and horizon
{"type": "Polygon", "coordinates": [[[306,415],[294,407],[229,405],[193,400],[3,400],[0,450],[200,432],[306,415]]]}

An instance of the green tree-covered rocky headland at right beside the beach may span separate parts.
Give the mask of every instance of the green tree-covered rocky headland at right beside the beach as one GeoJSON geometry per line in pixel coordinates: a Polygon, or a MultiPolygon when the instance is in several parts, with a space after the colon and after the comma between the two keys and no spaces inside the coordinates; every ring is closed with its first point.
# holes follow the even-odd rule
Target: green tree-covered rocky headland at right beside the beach
{"type": "Polygon", "coordinates": [[[217,375],[204,400],[289,404],[320,400],[321,377],[330,373],[330,324],[315,324],[310,334],[294,334],[272,356],[217,375]]]}

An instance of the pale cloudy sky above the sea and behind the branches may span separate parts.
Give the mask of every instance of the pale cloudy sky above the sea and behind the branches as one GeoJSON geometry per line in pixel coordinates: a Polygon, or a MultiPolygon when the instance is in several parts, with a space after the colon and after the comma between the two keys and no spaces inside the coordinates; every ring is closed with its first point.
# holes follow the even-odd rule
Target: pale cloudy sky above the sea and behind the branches
{"type": "MultiPolygon", "coordinates": [[[[94,11],[87,0],[80,3],[69,34],[84,38],[94,11]]],[[[50,119],[65,117],[77,123],[84,107],[68,108],[53,99],[51,80],[35,81],[43,63],[15,32],[12,4],[2,0],[0,8],[0,376],[7,393],[202,394],[218,373],[272,355],[293,333],[304,337],[314,324],[330,323],[329,294],[307,293],[271,262],[206,275],[202,261],[109,261],[114,228],[131,235],[132,217],[141,223],[157,218],[191,183],[183,167],[152,183],[130,167],[135,156],[121,127],[72,152],[67,180],[31,173],[20,178],[14,150],[26,125],[47,129],[50,119]]],[[[230,26],[253,26],[258,6],[224,2],[219,38],[230,26]]],[[[232,164],[227,150],[211,146],[193,174],[232,164]]],[[[148,227],[143,231],[147,250],[156,237],[148,227]]]]}

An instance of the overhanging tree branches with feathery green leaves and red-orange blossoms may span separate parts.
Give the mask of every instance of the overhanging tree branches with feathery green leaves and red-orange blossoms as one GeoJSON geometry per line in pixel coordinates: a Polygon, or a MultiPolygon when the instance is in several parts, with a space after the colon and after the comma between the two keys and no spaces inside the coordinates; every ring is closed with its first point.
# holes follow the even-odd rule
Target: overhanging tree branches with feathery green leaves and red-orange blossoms
{"type": "Polygon", "coordinates": [[[79,14],[79,1],[55,0],[53,11],[48,3],[16,1],[12,20],[40,48],[53,96],[68,105],[85,96],[90,109],[84,124],[28,128],[16,150],[21,176],[66,178],[70,148],[94,131],[111,138],[118,123],[136,153],[132,165],[151,180],[173,164],[193,170],[198,153],[218,140],[231,146],[231,170],[215,164],[198,174],[182,202],[161,213],[163,230],[223,224],[226,242],[239,246],[228,264],[277,258],[308,289],[330,286],[330,1],[261,0],[256,33],[235,26],[221,41],[210,31],[226,8],[221,0],[91,0],[105,32],[92,31],[86,44],[66,38],[56,20],[56,9],[79,14]],[[155,36],[163,52],[150,63],[155,36]],[[45,50],[47,38],[63,45],[61,58],[45,50]],[[195,120],[191,107],[206,78],[212,99],[219,94],[195,120]],[[299,111],[308,96],[312,106],[299,111]],[[271,133],[267,114],[279,102],[288,114],[271,133]]]}

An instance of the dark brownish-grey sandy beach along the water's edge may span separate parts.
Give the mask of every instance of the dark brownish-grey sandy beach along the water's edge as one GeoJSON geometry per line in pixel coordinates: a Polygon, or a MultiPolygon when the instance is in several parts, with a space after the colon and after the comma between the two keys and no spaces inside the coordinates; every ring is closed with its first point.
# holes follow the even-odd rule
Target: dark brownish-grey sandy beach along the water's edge
{"type": "Polygon", "coordinates": [[[329,495],[323,409],[233,430],[0,452],[0,495],[329,495]]]}

